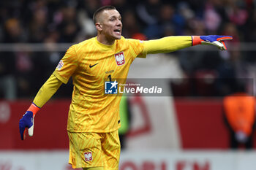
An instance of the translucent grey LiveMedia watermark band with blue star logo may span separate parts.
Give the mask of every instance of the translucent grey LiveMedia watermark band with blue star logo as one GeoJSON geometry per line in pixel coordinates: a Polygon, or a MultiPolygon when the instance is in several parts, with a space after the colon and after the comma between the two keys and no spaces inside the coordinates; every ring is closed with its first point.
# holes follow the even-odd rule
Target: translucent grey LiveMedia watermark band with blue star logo
{"type": "Polygon", "coordinates": [[[254,94],[252,79],[116,79],[105,81],[108,96],[223,97],[238,91],[254,94]]]}

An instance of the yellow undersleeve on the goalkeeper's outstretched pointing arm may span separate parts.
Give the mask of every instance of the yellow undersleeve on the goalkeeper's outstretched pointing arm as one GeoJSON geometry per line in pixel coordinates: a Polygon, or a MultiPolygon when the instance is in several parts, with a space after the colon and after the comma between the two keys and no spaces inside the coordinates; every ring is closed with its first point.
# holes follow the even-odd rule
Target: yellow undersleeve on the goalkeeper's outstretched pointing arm
{"type": "Polygon", "coordinates": [[[162,39],[144,41],[143,53],[170,53],[192,46],[192,36],[166,36],[162,39]]]}

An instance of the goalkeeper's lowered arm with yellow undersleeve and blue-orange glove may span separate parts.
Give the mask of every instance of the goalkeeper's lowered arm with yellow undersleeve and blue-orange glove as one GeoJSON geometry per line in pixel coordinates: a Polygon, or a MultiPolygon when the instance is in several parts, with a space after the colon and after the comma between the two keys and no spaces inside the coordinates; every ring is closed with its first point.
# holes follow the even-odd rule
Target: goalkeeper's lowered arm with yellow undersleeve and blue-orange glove
{"type": "Polygon", "coordinates": [[[53,94],[56,93],[61,84],[62,82],[52,74],[45,84],[42,85],[42,88],[40,88],[38,91],[33,103],[20,119],[19,128],[21,140],[25,139],[27,129],[29,129],[29,136],[33,136],[34,116],[37,114],[39,109],[53,96],[53,94]]]}

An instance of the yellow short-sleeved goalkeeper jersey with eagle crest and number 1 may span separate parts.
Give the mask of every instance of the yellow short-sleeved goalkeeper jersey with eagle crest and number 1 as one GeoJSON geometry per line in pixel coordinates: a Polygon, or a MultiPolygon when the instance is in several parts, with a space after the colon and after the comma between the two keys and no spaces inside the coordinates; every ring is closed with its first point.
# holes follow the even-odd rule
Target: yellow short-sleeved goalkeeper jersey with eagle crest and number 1
{"type": "MultiPolygon", "coordinates": [[[[105,81],[125,81],[136,57],[146,57],[144,43],[137,39],[118,39],[103,45],[97,37],[69,47],[53,74],[74,85],[67,130],[105,133],[120,127],[120,96],[104,93],[105,81]]],[[[121,82],[124,83],[124,82],[121,82]]]]}

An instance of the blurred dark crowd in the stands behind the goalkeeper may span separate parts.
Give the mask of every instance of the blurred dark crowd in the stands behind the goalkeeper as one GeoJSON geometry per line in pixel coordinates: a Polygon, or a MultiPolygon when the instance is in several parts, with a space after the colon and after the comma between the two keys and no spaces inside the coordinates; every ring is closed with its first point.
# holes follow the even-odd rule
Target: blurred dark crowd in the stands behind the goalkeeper
{"type": "MultiPolygon", "coordinates": [[[[255,0],[3,0],[0,1],[0,46],[76,43],[89,39],[97,34],[92,15],[102,5],[113,5],[121,13],[122,34],[126,38],[233,36],[227,46],[236,50],[175,53],[187,77],[187,81],[173,84],[177,95],[225,95],[231,93],[228,84],[233,84],[233,80],[246,81],[255,76],[255,52],[239,50],[241,42],[256,42],[255,0]],[[219,78],[227,82],[220,82],[219,78]],[[214,83],[209,83],[212,80],[214,83]]],[[[0,51],[0,98],[34,96],[63,55],[64,51],[0,51]]],[[[71,86],[69,83],[58,96],[69,97],[71,86]]]]}

